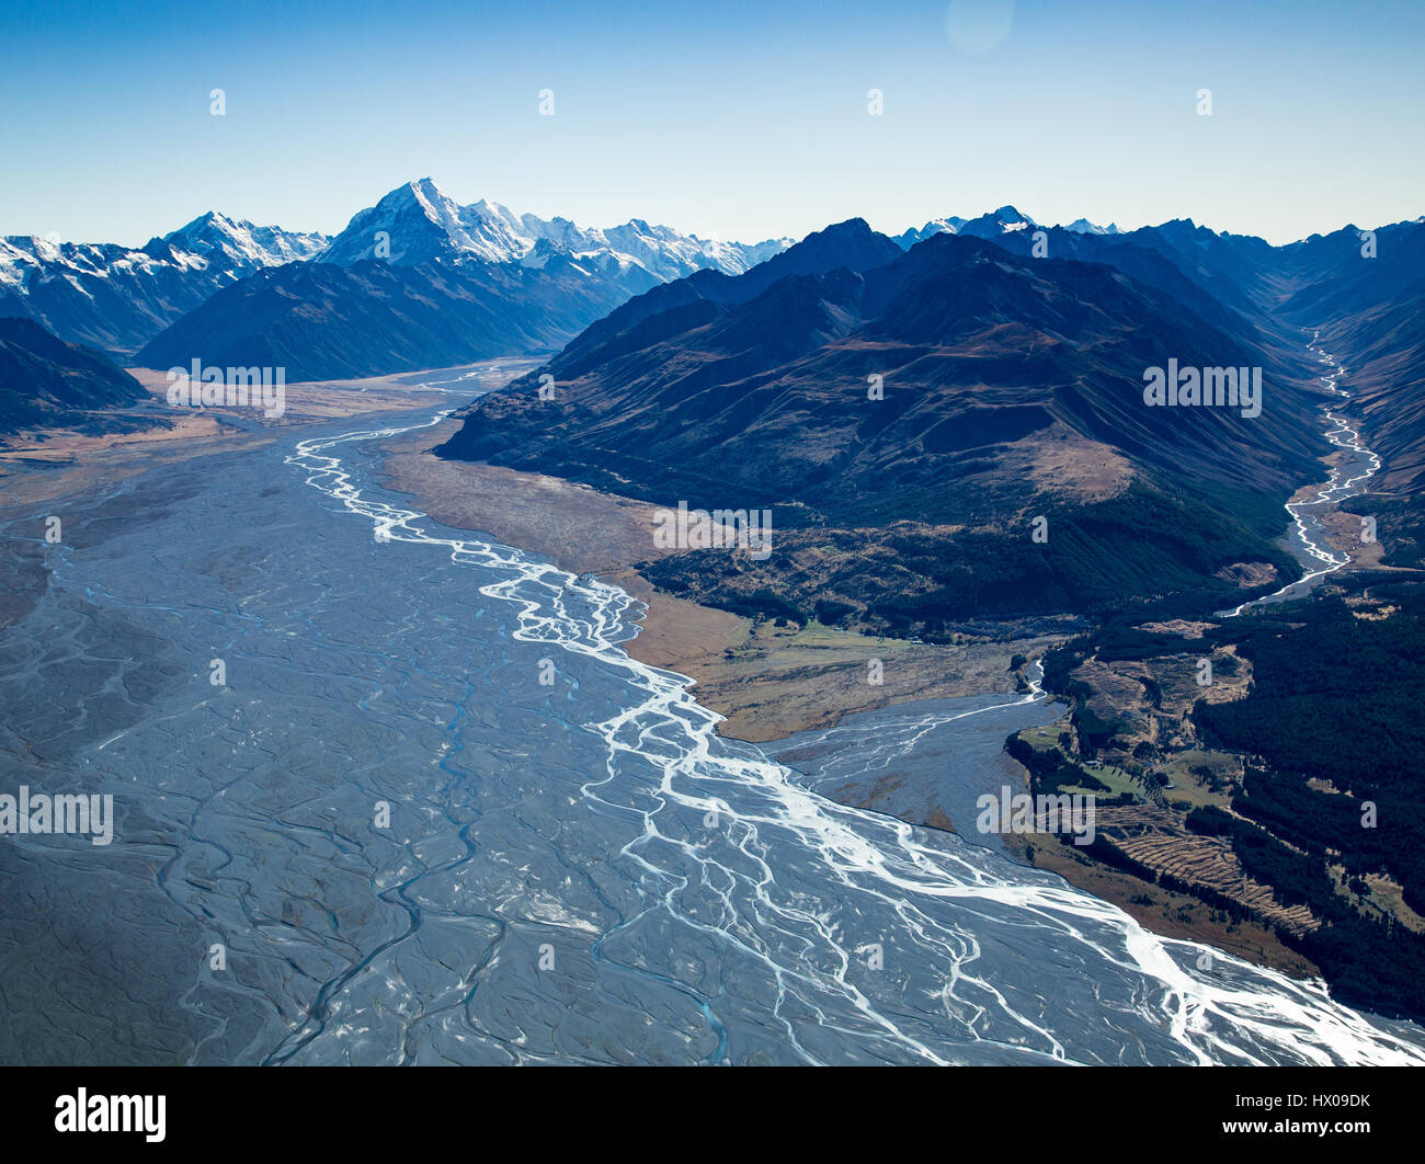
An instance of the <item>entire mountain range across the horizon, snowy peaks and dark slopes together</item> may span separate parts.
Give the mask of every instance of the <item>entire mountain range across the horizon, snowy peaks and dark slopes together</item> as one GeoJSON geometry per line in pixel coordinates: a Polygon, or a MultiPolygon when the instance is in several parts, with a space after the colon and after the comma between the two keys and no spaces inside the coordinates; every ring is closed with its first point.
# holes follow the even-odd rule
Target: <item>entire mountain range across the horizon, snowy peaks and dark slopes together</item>
{"type": "MultiPolygon", "coordinates": [[[[1003,524],[1131,483],[1206,492],[1194,504],[1265,530],[1324,450],[1304,350],[1320,328],[1348,366],[1359,356],[1385,459],[1361,506],[1409,563],[1425,225],[1365,238],[1045,227],[1003,205],[893,239],[852,219],[744,245],[459,205],[423,178],[332,238],[207,214],[140,249],[6,239],[0,313],[144,366],[282,366],[292,382],[547,353],[563,410],[529,403],[532,378],[477,405],[446,454],[688,500],[731,467],[745,504],[848,529],[1003,524]],[[1260,366],[1267,415],[1144,409],[1143,369],[1170,356],[1260,366]],[[855,403],[868,376],[884,378],[879,409],[855,403]]],[[[1234,547],[1273,557],[1255,534],[1234,547]]]]}

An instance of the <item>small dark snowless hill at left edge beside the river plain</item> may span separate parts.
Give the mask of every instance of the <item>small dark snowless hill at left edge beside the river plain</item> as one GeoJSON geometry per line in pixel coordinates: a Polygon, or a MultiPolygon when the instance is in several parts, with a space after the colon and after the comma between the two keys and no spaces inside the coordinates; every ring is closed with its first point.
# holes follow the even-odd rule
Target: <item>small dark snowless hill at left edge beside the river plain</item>
{"type": "Polygon", "coordinates": [[[70,425],[76,413],[147,399],[101,352],[56,339],[33,319],[0,318],[0,432],[70,425]]]}

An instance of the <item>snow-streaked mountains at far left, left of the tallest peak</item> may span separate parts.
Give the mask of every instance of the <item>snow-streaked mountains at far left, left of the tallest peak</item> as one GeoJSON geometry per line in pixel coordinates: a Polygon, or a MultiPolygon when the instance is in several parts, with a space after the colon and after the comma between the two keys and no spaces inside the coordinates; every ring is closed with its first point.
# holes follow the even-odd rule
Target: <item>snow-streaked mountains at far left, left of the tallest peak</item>
{"type": "Polygon", "coordinates": [[[0,239],[0,315],[34,319],[68,342],[130,353],[219,288],[308,259],[326,241],[221,214],[141,248],[10,237],[0,239]]]}

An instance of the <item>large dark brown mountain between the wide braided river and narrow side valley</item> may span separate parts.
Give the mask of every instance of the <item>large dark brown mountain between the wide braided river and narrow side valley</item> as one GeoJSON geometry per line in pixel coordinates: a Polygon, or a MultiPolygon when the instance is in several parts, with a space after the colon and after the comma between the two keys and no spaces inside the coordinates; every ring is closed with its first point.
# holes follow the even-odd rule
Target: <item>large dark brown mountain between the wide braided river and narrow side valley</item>
{"type": "MultiPolygon", "coordinates": [[[[647,566],[744,613],[933,638],[1124,600],[1201,608],[1300,571],[1275,544],[1281,504],[1328,447],[1307,303],[1381,311],[1425,228],[1385,228],[1389,262],[1342,268],[1354,228],[1288,248],[1186,221],[1047,228],[1037,258],[1040,228],[1013,207],[945,225],[916,242],[852,219],[745,275],[654,288],[472,405],[437,452],[664,504],[774,507],[765,563],[647,566]],[[1168,358],[1263,369],[1263,415],[1146,407],[1144,369],[1168,358]],[[1036,516],[1057,530],[1043,544],[1036,516]]],[[[1409,423],[1408,456],[1422,437],[1409,423]]]]}

